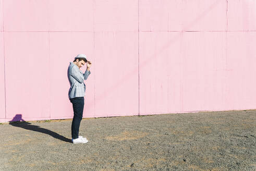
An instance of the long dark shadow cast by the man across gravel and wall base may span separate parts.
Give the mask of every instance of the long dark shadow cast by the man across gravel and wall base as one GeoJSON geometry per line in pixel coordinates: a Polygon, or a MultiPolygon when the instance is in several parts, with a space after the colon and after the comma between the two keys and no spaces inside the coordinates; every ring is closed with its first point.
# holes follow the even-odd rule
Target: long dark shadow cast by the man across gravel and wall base
{"type": "Polygon", "coordinates": [[[31,123],[29,123],[28,121],[25,121],[22,119],[22,115],[21,114],[17,114],[13,120],[9,121],[9,125],[15,126],[15,127],[20,127],[23,129],[28,129],[28,130],[32,130],[32,131],[37,131],[37,132],[41,132],[41,133],[46,133],[47,135],[50,135],[54,138],[57,138],[59,140],[65,141],[65,142],[72,142],[70,139],[63,137],[61,135],[59,135],[56,132],[53,132],[51,130],[45,129],[45,128],[41,128],[40,126],[36,126],[36,125],[31,125],[31,123]]]}

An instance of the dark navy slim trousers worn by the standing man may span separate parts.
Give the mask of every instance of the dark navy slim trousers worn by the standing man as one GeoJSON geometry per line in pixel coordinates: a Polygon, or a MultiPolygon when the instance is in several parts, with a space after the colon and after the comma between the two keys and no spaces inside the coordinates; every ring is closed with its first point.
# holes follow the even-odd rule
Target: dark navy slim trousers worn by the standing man
{"type": "Polygon", "coordinates": [[[71,136],[73,139],[76,139],[79,135],[79,127],[83,117],[84,97],[75,97],[69,100],[73,105],[74,111],[74,117],[71,125],[71,136]]]}

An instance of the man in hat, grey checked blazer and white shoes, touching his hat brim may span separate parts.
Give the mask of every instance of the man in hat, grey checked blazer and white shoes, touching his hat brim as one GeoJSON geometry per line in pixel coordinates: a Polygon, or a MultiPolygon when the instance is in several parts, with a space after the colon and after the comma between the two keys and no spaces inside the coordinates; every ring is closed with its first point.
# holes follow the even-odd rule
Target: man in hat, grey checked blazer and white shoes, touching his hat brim
{"type": "Polygon", "coordinates": [[[75,57],[73,62],[70,62],[68,67],[68,81],[70,83],[70,89],[68,91],[68,97],[73,106],[74,117],[71,125],[71,136],[73,143],[87,143],[88,140],[79,135],[80,122],[83,116],[84,106],[84,93],[86,92],[86,84],[83,80],[87,80],[91,74],[90,67],[91,62],[87,61],[86,55],[79,54],[75,57]],[[83,72],[80,70],[87,63],[87,69],[83,72]]]}

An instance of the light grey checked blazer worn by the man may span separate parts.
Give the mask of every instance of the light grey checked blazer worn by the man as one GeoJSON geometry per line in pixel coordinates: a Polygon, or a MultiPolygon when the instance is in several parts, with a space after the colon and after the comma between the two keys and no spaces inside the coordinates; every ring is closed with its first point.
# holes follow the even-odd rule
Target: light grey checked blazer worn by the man
{"type": "Polygon", "coordinates": [[[77,65],[70,62],[68,66],[68,81],[70,84],[70,89],[68,91],[69,99],[84,96],[84,93],[86,92],[86,84],[84,84],[83,80],[87,80],[90,74],[91,71],[88,70],[83,74],[77,65]]]}

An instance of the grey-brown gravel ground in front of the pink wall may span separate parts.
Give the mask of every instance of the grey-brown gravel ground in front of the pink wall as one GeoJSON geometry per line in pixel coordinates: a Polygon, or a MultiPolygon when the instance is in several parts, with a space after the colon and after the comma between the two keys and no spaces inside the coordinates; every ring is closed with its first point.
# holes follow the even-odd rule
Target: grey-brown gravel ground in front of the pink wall
{"type": "Polygon", "coordinates": [[[256,110],[0,125],[0,170],[256,170],[256,110]]]}

